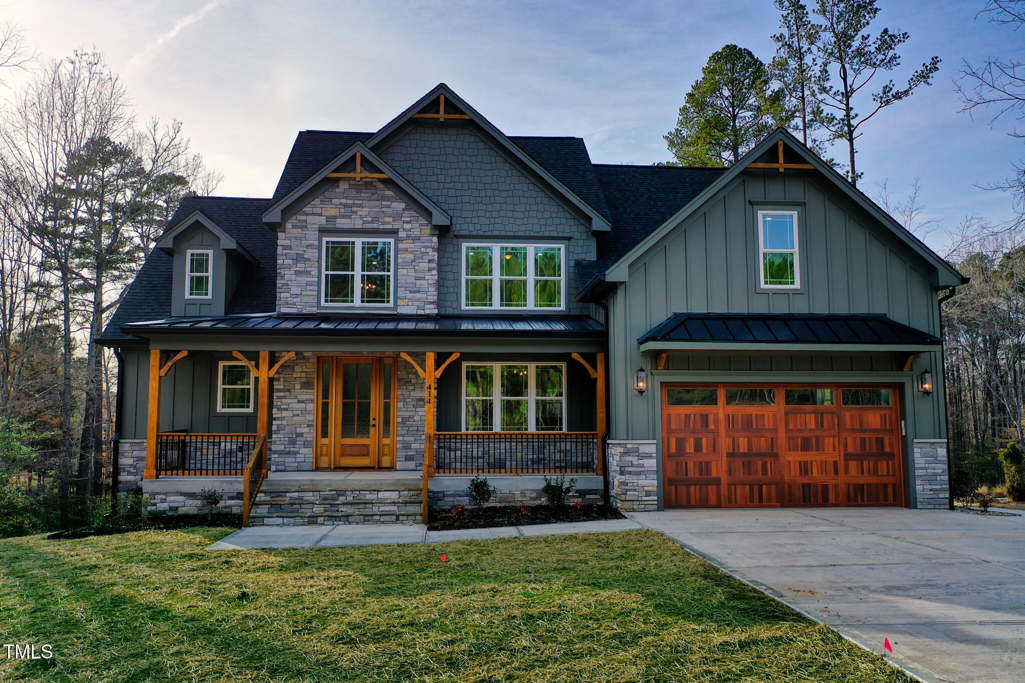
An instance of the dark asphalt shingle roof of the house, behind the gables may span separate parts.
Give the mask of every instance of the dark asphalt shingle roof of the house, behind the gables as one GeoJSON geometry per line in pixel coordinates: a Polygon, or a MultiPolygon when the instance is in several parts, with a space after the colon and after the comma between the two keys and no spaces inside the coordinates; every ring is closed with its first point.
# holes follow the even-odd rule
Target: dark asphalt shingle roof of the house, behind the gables
{"type": "MultiPolygon", "coordinates": [[[[264,225],[262,213],[354,142],[372,135],[356,131],[301,131],[272,199],[191,197],[181,202],[169,225],[196,209],[202,210],[260,261],[260,267],[244,269],[228,304],[228,313],[260,313],[275,308],[277,233],[264,225]]],[[[598,260],[577,261],[580,286],[604,272],[724,171],[594,165],[579,137],[511,136],[509,139],[612,223],[611,231],[596,233],[598,260]]],[[[121,332],[125,324],[170,315],[171,263],[171,257],[161,251],[150,254],[101,335],[102,341],[130,339],[121,332]]]]}

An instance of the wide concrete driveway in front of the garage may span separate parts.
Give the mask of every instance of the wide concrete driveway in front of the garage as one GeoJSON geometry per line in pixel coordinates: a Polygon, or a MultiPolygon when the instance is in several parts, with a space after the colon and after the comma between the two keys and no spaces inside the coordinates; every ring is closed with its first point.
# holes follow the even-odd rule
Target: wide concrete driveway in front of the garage
{"type": "Polygon", "coordinates": [[[902,508],[631,513],[924,680],[1025,681],[1025,517],[902,508]]]}

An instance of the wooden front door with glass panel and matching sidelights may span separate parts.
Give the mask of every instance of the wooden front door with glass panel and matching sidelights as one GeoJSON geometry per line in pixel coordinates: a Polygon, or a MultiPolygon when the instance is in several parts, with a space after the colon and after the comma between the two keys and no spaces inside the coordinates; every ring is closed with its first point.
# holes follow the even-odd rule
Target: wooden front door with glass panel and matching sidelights
{"type": "Polygon", "coordinates": [[[392,356],[317,360],[317,469],[395,467],[396,361],[392,356]]]}

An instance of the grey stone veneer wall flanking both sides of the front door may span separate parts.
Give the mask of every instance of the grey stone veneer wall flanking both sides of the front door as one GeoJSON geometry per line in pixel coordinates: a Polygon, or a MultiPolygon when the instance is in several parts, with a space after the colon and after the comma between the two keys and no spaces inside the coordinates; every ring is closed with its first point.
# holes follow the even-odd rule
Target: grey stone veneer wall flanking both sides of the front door
{"type": "MultiPolygon", "coordinates": [[[[410,353],[423,367],[423,353],[410,353]]],[[[314,389],[317,354],[302,351],[274,378],[270,464],[272,472],[314,469],[314,389]]],[[[398,358],[396,469],[423,467],[423,380],[398,358]]]]}

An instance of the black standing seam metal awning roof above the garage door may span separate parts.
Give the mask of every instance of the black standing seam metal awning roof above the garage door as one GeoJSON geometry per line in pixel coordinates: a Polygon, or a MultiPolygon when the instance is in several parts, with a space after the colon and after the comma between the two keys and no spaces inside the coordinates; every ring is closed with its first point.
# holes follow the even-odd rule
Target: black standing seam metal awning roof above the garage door
{"type": "Polygon", "coordinates": [[[755,344],[941,344],[881,313],[673,313],[638,338],[755,344]]]}

